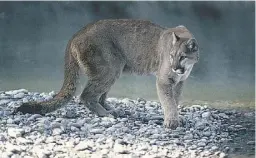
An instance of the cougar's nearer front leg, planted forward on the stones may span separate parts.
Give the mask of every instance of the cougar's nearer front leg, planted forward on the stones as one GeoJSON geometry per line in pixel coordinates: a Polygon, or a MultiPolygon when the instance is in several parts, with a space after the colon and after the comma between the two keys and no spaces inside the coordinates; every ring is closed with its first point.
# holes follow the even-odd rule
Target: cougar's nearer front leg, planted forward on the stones
{"type": "Polygon", "coordinates": [[[166,128],[176,129],[179,125],[178,107],[175,100],[175,85],[169,79],[157,79],[157,94],[164,109],[164,126],[166,128]]]}

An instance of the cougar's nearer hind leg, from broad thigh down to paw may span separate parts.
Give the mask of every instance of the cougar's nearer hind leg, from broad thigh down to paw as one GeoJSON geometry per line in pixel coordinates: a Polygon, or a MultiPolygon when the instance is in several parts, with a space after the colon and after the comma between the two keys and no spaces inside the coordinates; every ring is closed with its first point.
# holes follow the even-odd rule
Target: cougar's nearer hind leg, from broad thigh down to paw
{"type": "Polygon", "coordinates": [[[86,48],[86,52],[79,56],[88,75],[88,83],[80,99],[93,112],[99,116],[115,112],[103,104],[107,92],[119,78],[125,65],[120,53],[113,45],[94,44],[86,48]]]}

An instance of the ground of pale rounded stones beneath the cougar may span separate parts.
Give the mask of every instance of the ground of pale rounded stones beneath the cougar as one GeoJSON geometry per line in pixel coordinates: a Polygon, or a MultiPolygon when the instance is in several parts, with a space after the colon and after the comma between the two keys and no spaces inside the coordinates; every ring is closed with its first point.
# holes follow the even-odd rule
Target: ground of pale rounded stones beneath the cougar
{"type": "Polygon", "coordinates": [[[0,92],[0,158],[224,158],[254,157],[254,110],[179,107],[181,126],[163,128],[155,101],[108,98],[120,118],[97,117],[74,98],[46,116],[16,114],[22,102],[51,93],[0,92]]]}

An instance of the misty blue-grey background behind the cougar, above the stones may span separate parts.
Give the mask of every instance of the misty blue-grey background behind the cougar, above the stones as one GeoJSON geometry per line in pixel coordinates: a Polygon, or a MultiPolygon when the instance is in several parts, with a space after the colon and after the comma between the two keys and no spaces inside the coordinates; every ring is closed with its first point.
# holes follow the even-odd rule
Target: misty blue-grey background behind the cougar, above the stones
{"type": "MultiPolygon", "coordinates": [[[[0,2],[0,90],[58,91],[71,36],[100,19],[186,26],[200,47],[184,99],[253,103],[255,2],[0,2]]],[[[79,89],[85,85],[82,77],[79,89]]],[[[79,92],[79,91],[78,91],[79,92]]],[[[79,93],[78,93],[79,94],[79,93]]],[[[157,99],[154,76],[123,75],[112,97],[157,99]]]]}

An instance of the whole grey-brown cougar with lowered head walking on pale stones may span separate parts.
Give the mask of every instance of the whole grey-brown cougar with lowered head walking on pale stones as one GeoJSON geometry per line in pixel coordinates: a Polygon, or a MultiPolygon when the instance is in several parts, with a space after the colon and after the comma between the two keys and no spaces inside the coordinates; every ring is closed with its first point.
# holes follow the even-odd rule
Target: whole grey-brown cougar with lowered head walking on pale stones
{"type": "Polygon", "coordinates": [[[144,20],[100,20],[69,40],[64,82],[58,94],[48,101],[23,103],[16,112],[46,114],[60,108],[72,99],[82,69],[88,82],[81,102],[98,116],[118,115],[105,100],[120,75],[155,74],[164,126],[175,129],[182,87],[198,60],[197,41],[185,26],[165,28],[144,20]]]}

